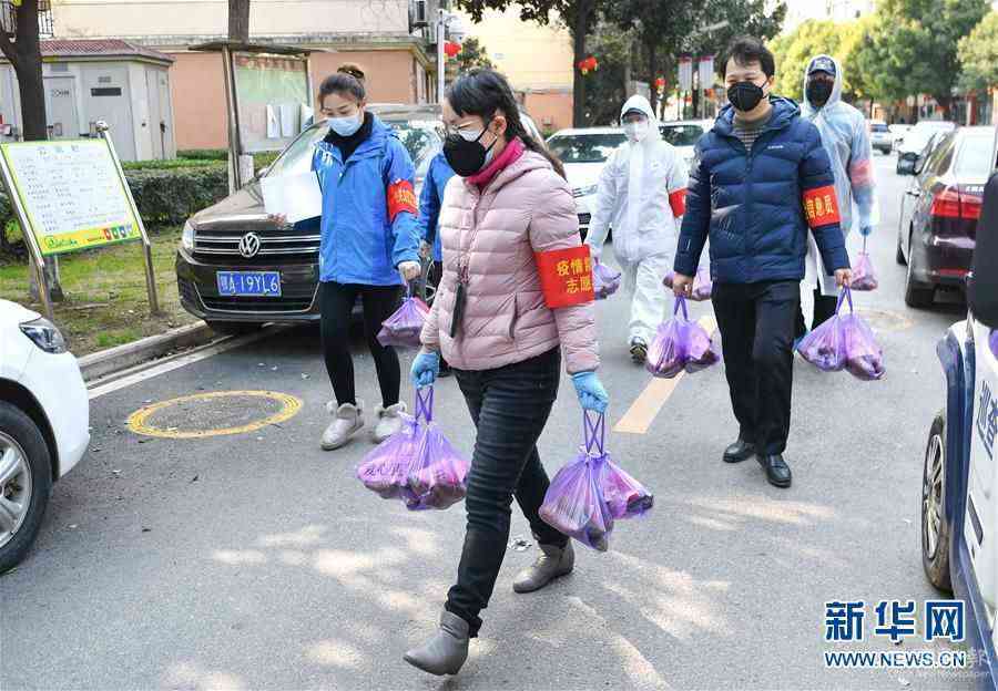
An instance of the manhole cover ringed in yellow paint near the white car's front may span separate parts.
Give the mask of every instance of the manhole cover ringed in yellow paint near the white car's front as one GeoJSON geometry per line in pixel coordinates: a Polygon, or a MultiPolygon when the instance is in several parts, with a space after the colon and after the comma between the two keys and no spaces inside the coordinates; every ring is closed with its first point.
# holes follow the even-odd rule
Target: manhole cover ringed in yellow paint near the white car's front
{"type": "Polygon", "coordinates": [[[302,401],[274,391],[213,391],[162,401],[135,411],[129,429],[167,439],[244,434],[294,417],[302,401]]]}

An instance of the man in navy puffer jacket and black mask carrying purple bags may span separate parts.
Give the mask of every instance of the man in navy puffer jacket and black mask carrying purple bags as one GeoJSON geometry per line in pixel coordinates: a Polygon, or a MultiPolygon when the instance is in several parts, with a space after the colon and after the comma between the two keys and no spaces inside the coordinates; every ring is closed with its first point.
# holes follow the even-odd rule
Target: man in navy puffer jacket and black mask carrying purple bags
{"type": "Polygon", "coordinates": [[[712,301],[739,421],[727,463],[755,455],[771,484],[791,485],[794,321],[814,234],[824,266],[848,285],[835,179],[821,134],[796,103],[773,96],[773,54],[756,39],[727,50],[731,105],[696,144],[675,258],[676,295],[689,295],[710,237],[712,301]]]}

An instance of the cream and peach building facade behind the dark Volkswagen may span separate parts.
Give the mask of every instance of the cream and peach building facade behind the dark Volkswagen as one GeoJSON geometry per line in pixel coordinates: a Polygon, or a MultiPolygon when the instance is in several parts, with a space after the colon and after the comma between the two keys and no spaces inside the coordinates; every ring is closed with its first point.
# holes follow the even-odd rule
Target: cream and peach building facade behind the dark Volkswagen
{"type": "MultiPolygon", "coordinates": [[[[421,0],[420,0],[421,1],[421,0]]],[[[410,0],[253,0],[252,42],[314,50],[318,84],[345,62],[367,74],[373,103],[426,103],[435,93],[429,29],[410,0]]],[[[436,0],[422,2],[432,18],[436,0]]],[[[171,70],[176,146],[227,146],[222,58],[193,47],[226,38],[227,0],[60,0],[54,33],[63,39],[123,39],[166,53],[171,70]]]]}

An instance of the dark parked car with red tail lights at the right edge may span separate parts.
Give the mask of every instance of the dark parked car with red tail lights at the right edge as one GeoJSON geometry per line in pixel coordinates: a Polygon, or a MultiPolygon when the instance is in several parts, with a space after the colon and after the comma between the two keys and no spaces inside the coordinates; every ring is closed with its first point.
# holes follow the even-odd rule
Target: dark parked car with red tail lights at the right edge
{"type": "Polygon", "coordinates": [[[937,287],[961,288],[970,270],[981,194],[995,167],[992,127],[941,137],[902,196],[897,261],[908,266],[905,302],[929,307],[937,287]]]}

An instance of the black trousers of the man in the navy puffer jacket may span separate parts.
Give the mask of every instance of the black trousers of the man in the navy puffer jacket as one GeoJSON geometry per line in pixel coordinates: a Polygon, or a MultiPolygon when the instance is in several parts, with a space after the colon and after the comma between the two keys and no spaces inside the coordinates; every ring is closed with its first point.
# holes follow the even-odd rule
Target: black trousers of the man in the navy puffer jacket
{"type": "Polygon", "coordinates": [[[760,454],[781,454],[790,434],[798,281],[714,283],[724,368],[739,436],[760,454]]]}

